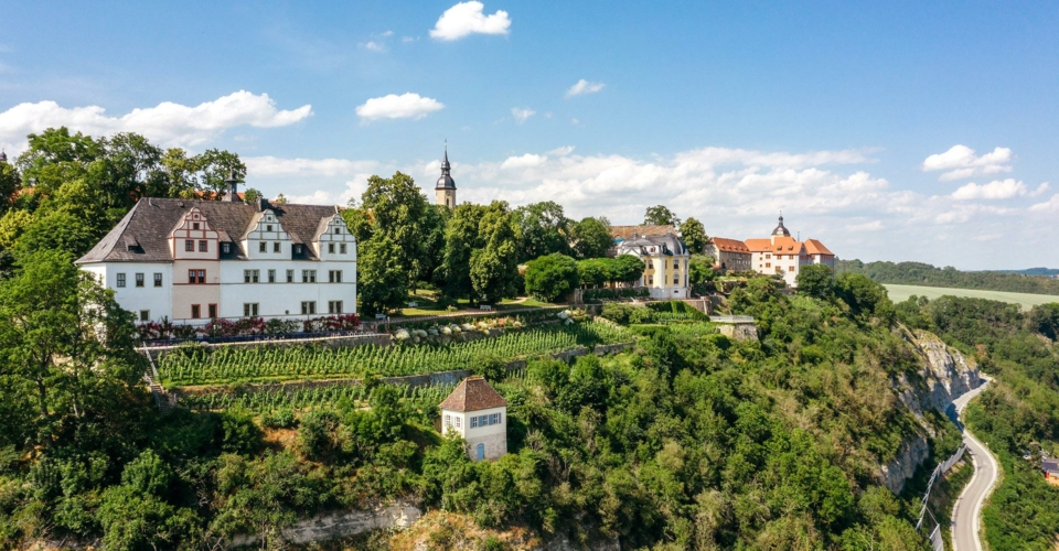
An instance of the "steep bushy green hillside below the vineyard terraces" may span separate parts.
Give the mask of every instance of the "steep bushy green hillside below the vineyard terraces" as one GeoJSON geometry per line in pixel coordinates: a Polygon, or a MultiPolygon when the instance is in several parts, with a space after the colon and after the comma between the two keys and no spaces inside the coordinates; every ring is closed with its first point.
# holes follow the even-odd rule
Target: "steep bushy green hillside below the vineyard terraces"
{"type": "MultiPolygon", "coordinates": [[[[55,281],[42,278],[3,281],[2,303],[47,311],[42,301],[54,296],[32,293],[55,281]]],[[[661,315],[593,333],[605,342],[638,333],[629,352],[568,364],[531,350],[528,365],[511,371],[504,355],[527,348],[470,358],[467,367],[510,404],[510,453],[493,463],[471,462],[459,441],[437,434],[443,392],[409,392],[368,375],[366,392],[321,389],[277,402],[239,382],[259,380],[261,356],[200,358],[180,375],[227,381],[246,400],[159,417],[138,380],[142,363],[128,354],[131,339],[120,338],[131,324],[115,320],[110,359],[99,364],[107,368],[54,372],[46,418],[31,407],[32,374],[3,387],[0,537],[4,547],[101,539],[108,549],[193,548],[246,537],[277,545],[299,519],[400,499],[574,544],[924,549],[913,529],[920,490],[908,488],[959,443],[934,408],[965,388],[969,374],[952,367],[963,363],[932,365],[948,357],[944,347],[892,325],[892,304],[865,278],[838,278],[824,299],[789,298],[755,279],[730,302],[756,316],[760,341],[661,315]],[[201,376],[206,367],[226,375],[201,376]]],[[[0,335],[17,336],[19,327],[4,327],[0,335]]],[[[363,346],[372,357],[396,354],[363,346]]],[[[464,349],[395,346],[402,358],[464,349]]],[[[314,365],[356,372],[333,358],[314,365]]],[[[161,364],[174,377],[188,367],[161,364]]],[[[268,365],[272,374],[282,364],[268,365]]]]}

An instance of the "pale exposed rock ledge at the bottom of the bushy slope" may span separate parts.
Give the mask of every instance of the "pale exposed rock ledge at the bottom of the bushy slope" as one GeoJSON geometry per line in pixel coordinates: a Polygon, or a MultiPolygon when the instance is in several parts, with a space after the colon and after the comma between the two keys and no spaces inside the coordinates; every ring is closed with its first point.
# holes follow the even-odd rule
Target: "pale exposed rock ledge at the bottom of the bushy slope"
{"type": "MultiPolygon", "coordinates": [[[[301,520],[280,530],[280,537],[295,544],[335,540],[372,530],[405,529],[421,516],[422,511],[414,504],[397,503],[366,511],[331,512],[301,520]]],[[[229,547],[257,545],[259,541],[259,534],[238,536],[232,539],[229,547]]]]}

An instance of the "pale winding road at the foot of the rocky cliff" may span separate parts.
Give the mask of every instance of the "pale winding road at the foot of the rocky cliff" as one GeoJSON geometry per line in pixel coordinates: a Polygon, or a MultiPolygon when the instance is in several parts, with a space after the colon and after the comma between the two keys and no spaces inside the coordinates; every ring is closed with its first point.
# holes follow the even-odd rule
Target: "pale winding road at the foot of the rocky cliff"
{"type": "MultiPolygon", "coordinates": [[[[978,396],[988,385],[990,380],[986,379],[981,387],[953,400],[956,414],[962,414],[967,402],[978,396]]],[[[982,506],[985,498],[993,491],[999,467],[990,450],[972,436],[967,430],[963,431],[963,443],[967,445],[967,451],[971,452],[974,476],[963,488],[956,499],[955,507],[952,509],[952,547],[954,551],[982,551],[982,537],[978,533],[982,506]]]]}

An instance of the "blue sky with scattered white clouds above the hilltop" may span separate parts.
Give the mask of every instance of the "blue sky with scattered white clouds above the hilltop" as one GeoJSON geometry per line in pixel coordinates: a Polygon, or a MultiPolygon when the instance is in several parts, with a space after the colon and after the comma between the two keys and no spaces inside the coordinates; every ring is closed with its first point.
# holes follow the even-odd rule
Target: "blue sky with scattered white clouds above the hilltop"
{"type": "Polygon", "coordinates": [[[839,258],[1059,267],[1057,2],[0,0],[0,148],[67,126],[839,258]]]}

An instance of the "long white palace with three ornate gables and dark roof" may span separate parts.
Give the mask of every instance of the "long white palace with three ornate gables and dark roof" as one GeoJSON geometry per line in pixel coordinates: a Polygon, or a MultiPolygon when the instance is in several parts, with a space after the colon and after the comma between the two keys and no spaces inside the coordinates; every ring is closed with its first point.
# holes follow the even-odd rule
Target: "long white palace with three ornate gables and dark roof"
{"type": "Polygon", "coordinates": [[[77,260],[139,322],[356,313],[356,240],[336,206],[141,198],[77,260]]]}

